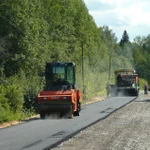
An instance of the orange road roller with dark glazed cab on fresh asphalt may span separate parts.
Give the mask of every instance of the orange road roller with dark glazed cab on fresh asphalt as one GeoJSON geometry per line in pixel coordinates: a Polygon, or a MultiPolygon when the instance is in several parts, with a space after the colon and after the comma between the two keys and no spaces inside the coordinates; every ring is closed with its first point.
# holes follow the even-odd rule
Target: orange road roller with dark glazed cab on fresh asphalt
{"type": "Polygon", "coordinates": [[[58,112],[61,116],[79,116],[81,92],[76,89],[75,64],[46,63],[46,85],[38,94],[40,117],[58,112]]]}

